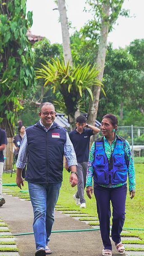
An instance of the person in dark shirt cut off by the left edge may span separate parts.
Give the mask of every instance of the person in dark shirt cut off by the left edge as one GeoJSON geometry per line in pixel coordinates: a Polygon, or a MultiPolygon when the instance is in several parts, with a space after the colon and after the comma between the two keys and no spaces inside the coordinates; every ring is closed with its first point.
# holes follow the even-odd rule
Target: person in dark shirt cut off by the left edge
{"type": "Polygon", "coordinates": [[[0,207],[5,203],[5,199],[2,195],[2,175],[3,175],[3,165],[4,165],[4,155],[3,150],[7,144],[6,132],[0,128],[0,207]]]}

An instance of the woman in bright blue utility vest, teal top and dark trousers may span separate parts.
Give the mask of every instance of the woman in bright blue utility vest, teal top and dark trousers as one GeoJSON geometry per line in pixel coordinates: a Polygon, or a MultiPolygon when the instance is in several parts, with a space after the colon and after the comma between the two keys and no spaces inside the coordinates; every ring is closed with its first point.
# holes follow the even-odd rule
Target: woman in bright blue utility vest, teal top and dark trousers
{"type": "Polygon", "coordinates": [[[124,254],[120,233],[125,221],[127,175],[131,199],[135,195],[135,170],[128,141],[116,135],[117,117],[107,114],[102,118],[102,137],[93,142],[87,169],[87,195],[96,197],[103,256],[112,256],[110,233],[110,201],[112,203],[112,240],[118,253],[124,254]],[[93,177],[93,187],[92,187],[93,177]]]}

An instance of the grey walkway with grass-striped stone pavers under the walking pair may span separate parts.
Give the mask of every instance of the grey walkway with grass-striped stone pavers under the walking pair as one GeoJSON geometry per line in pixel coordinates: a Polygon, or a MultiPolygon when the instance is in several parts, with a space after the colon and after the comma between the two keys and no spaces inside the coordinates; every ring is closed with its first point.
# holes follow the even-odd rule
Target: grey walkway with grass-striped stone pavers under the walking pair
{"type": "MultiPolygon", "coordinates": [[[[3,205],[3,220],[8,223],[8,227],[3,227],[3,231],[10,228],[12,233],[23,233],[32,232],[32,221],[33,212],[32,206],[29,201],[28,193],[13,193],[13,197],[10,195],[11,192],[5,189],[8,194],[5,196],[6,204],[3,205]],[[7,211],[5,211],[7,209],[7,211]],[[9,215],[13,216],[13,220],[9,215]],[[7,214],[6,214],[7,212],[7,214]]],[[[75,230],[75,229],[93,229],[99,228],[99,221],[96,217],[89,216],[86,213],[81,213],[80,210],[72,210],[70,208],[63,207],[62,205],[56,205],[55,212],[55,222],[53,225],[53,230],[75,230]],[[91,225],[91,226],[90,226],[91,225]]],[[[3,232],[3,234],[6,232],[3,232]]],[[[123,233],[130,232],[123,231],[123,233]]],[[[123,236],[122,233],[122,236],[123,236]]],[[[126,234],[125,234],[126,235],[126,234]]],[[[3,238],[1,238],[3,239],[3,238]]],[[[7,238],[11,239],[11,238],[7,238]]],[[[144,245],[141,244],[125,244],[126,240],[140,240],[139,237],[122,237],[122,242],[125,248],[137,248],[143,251],[126,251],[128,256],[143,256],[144,255],[144,245]]],[[[0,240],[2,241],[2,240],[0,240]]],[[[10,241],[10,240],[9,240],[10,241]]],[[[11,256],[34,256],[35,255],[35,241],[33,235],[26,236],[16,236],[16,243],[19,247],[19,253],[11,254],[11,256]]],[[[114,243],[112,242],[112,245],[114,243]]],[[[53,256],[66,256],[74,255],[77,256],[91,256],[101,255],[103,249],[101,243],[101,237],[99,231],[91,232],[67,232],[67,233],[53,233],[51,234],[50,248],[53,251],[53,256]]],[[[128,249],[127,249],[128,250],[128,249]]],[[[10,254],[0,254],[8,255],[10,254]]],[[[112,250],[113,256],[118,256],[119,254],[115,251],[115,246],[112,250]]]]}

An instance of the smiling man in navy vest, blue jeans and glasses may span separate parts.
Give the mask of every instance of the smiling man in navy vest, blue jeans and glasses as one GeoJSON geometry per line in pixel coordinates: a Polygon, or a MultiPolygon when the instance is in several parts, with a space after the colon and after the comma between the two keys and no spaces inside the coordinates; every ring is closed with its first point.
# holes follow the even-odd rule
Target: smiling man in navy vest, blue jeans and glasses
{"type": "Polygon", "coordinates": [[[35,256],[51,254],[48,242],[62,182],[64,156],[71,171],[69,182],[72,187],[77,185],[75,150],[66,129],[54,122],[55,115],[52,103],[40,105],[40,120],[26,129],[16,163],[16,183],[21,189],[24,185],[21,172],[27,162],[25,180],[34,210],[35,256]]]}

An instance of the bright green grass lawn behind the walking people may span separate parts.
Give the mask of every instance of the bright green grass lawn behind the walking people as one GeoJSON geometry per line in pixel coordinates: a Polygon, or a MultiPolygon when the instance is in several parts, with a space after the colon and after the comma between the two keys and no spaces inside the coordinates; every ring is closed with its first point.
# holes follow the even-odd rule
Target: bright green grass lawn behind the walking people
{"type": "MultiPolygon", "coordinates": [[[[139,228],[144,229],[144,164],[135,164],[136,168],[136,195],[131,200],[129,197],[129,191],[126,199],[126,218],[124,227],[128,228],[139,228]]],[[[78,205],[75,205],[75,201],[72,198],[72,195],[77,191],[77,187],[72,188],[69,184],[69,173],[64,169],[63,172],[63,183],[60,190],[59,200],[57,202],[58,205],[62,205],[63,207],[68,207],[69,210],[80,210],[81,213],[88,213],[90,216],[96,216],[96,201],[93,195],[92,199],[86,195],[86,209],[80,209],[78,205]]],[[[14,173],[12,178],[11,174],[3,173],[3,183],[13,183],[15,181],[16,174],[14,173]]],[[[6,187],[3,187],[6,188],[6,187]]],[[[7,187],[15,192],[19,192],[20,189],[18,187],[7,187]]],[[[27,190],[27,182],[24,182],[24,190],[27,190]]],[[[132,234],[139,234],[141,238],[144,239],[144,231],[132,231],[132,234]]]]}

